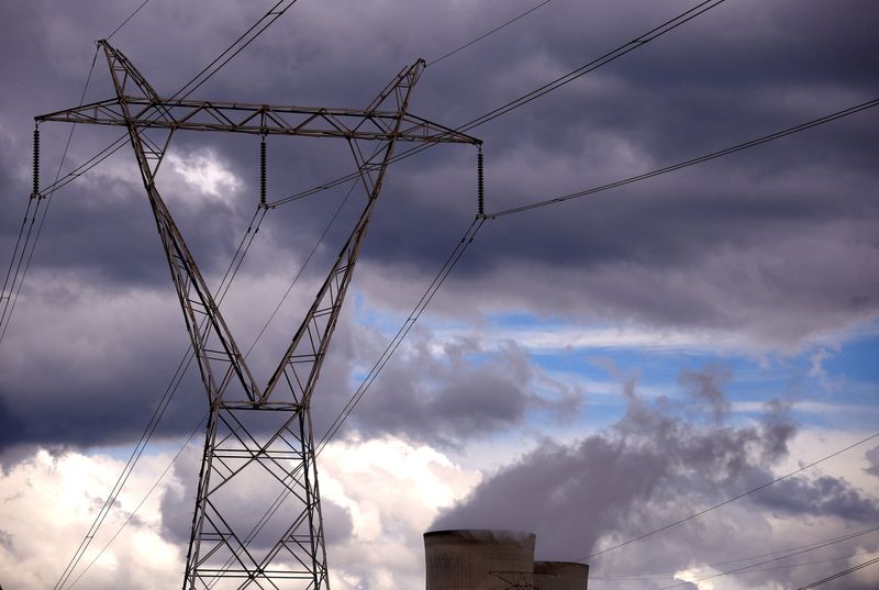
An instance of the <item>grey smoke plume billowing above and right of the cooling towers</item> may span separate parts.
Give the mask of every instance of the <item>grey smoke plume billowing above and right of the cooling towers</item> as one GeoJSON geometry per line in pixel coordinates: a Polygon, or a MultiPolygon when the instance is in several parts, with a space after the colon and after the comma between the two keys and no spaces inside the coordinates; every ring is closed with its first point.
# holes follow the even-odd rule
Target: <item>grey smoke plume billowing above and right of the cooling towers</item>
{"type": "MultiPolygon", "coordinates": [[[[680,376],[685,390],[715,418],[709,425],[680,418],[667,398],[646,402],[634,380],[623,382],[627,408],[619,422],[576,444],[545,442],[485,479],[432,527],[530,531],[537,534],[538,558],[582,560],[775,479],[774,468],[798,432],[789,405],[772,401],[759,420],[726,423],[728,402],[720,383],[728,378],[716,367],[680,376]]],[[[802,543],[789,531],[802,523],[821,522],[808,534],[830,536],[832,527],[877,519],[876,499],[845,479],[803,475],[589,561],[612,570],[682,570],[728,558],[739,545],[743,555],[754,553],[748,546],[760,537],[765,546],[766,535],[802,543]]]]}

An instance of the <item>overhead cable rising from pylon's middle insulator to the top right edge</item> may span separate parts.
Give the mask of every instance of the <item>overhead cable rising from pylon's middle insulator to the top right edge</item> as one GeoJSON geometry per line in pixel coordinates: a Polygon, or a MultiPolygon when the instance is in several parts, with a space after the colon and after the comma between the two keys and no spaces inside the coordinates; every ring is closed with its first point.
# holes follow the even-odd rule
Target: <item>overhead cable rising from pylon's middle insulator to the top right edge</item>
{"type": "MultiPolygon", "coordinates": [[[[492,120],[494,120],[494,119],[497,119],[497,118],[499,118],[501,115],[504,115],[504,114],[509,113],[510,111],[519,109],[520,107],[523,107],[523,105],[525,105],[525,104],[527,104],[527,103],[530,103],[530,102],[543,97],[544,94],[547,94],[548,92],[557,90],[557,89],[561,88],[563,86],[568,85],[568,84],[572,82],[574,80],[577,80],[578,78],[589,74],[590,71],[593,71],[593,70],[596,70],[596,69],[598,69],[598,68],[600,68],[602,66],[605,66],[605,65],[610,64],[611,62],[614,62],[614,60],[619,59],[620,57],[623,57],[624,55],[628,54],[630,52],[633,52],[635,49],[644,47],[648,43],[659,38],[660,36],[665,35],[667,33],[670,33],[675,29],[677,29],[677,27],[681,26],[682,24],[696,19],[697,16],[700,16],[700,15],[704,14],[709,10],[719,7],[720,4],[722,4],[726,0],[705,0],[703,2],[700,2],[699,4],[694,5],[693,8],[689,9],[689,10],[687,10],[687,11],[680,13],[680,14],[678,14],[677,16],[675,16],[672,19],[667,20],[666,22],[664,22],[659,26],[655,26],[654,29],[647,31],[646,33],[635,37],[634,40],[628,41],[626,43],[623,43],[619,47],[605,53],[601,57],[592,59],[591,62],[589,62],[587,64],[583,64],[582,66],[580,66],[578,68],[575,68],[575,69],[568,71],[567,74],[565,74],[563,76],[559,76],[558,78],[555,78],[554,80],[552,80],[549,82],[546,82],[545,85],[541,86],[539,88],[535,88],[534,90],[532,90],[530,92],[526,92],[525,94],[522,94],[521,97],[519,97],[519,98],[516,98],[514,100],[511,100],[511,101],[507,102],[505,104],[502,104],[501,107],[492,109],[491,111],[489,111],[489,112],[487,112],[487,113],[485,113],[485,114],[482,114],[480,116],[477,116],[476,119],[472,119],[471,121],[469,121],[467,123],[464,123],[463,125],[456,127],[454,131],[456,133],[464,133],[464,132],[470,131],[470,130],[472,130],[475,127],[478,127],[479,125],[482,125],[482,124],[488,123],[489,121],[492,121],[492,120]]],[[[418,147],[411,147],[409,149],[400,152],[399,154],[397,154],[396,156],[393,156],[390,159],[390,164],[394,164],[397,162],[405,159],[405,158],[408,158],[410,156],[413,156],[415,154],[420,154],[421,152],[424,152],[425,149],[430,149],[431,146],[433,146],[433,145],[434,144],[422,144],[422,145],[419,145],[418,147]]],[[[277,207],[277,205],[280,205],[280,204],[286,204],[286,203],[289,203],[289,202],[292,202],[292,201],[297,201],[299,199],[303,199],[303,198],[309,197],[311,194],[324,191],[326,189],[336,187],[338,185],[347,182],[348,180],[357,178],[357,176],[359,174],[360,172],[358,172],[358,171],[351,172],[351,174],[348,174],[346,176],[338,177],[335,180],[330,180],[330,181],[324,182],[322,185],[319,185],[316,187],[312,187],[312,188],[310,188],[308,190],[303,190],[303,191],[297,192],[296,194],[291,194],[289,197],[271,201],[269,203],[269,205],[277,207]]]]}

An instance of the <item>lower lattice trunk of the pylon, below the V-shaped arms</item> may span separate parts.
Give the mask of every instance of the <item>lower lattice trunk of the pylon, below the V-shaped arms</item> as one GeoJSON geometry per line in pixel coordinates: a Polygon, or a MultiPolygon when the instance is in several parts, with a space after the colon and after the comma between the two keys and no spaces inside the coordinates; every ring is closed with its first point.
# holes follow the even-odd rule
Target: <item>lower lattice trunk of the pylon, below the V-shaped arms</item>
{"type": "Polygon", "coordinates": [[[185,590],[329,586],[309,412],[274,410],[214,411],[185,590]]]}

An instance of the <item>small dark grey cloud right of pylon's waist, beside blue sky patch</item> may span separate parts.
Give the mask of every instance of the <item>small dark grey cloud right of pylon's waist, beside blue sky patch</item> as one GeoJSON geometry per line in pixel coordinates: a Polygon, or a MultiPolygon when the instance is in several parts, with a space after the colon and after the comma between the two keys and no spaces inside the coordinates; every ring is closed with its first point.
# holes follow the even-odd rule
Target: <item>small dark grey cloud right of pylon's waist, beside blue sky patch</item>
{"type": "Polygon", "coordinates": [[[486,350],[458,338],[439,354],[435,346],[423,331],[408,341],[352,415],[358,430],[461,446],[521,424],[527,414],[570,418],[582,403],[583,391],[548,379],[515,343],[486,350]]]}

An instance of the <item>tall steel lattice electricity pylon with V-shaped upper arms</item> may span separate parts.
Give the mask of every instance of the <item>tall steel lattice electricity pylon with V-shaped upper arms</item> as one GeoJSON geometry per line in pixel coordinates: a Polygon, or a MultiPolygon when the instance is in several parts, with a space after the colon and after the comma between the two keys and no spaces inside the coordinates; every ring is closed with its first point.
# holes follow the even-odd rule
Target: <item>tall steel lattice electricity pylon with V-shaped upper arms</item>
{"type": "Polygon", "coordinates": [[[162,99],[120,51],[98,43],[116,97],[36,122],[124,126],[137,158],[210,405],[183,590],[326,589],[311,400],[394,144],[481,142],[408,112],[423,59],[403,68],[366,109],[271,107],[162,99]],[[351,236],[263,388],[156,188],[178,130],[344,138],[366,190],[351,236]],[[365,151],[365,142],[378,147],[365,151]],[[282,511],[265,501],[269,489],[289,498],[282,511]],[[257,519],[263,506],[277,511],[271,522],[257,519]]]}

